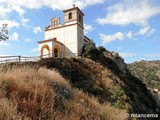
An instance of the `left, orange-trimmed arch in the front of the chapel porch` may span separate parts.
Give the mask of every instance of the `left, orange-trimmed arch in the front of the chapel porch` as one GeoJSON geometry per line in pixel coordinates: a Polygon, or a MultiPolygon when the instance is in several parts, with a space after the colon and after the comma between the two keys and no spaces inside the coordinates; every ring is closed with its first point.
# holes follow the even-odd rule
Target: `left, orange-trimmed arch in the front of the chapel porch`
{"type": "Polygon", "coordinates": [[[48,45],[43,45],[41,48],[41,58],[50,57],[50,48],[48,45]]]}

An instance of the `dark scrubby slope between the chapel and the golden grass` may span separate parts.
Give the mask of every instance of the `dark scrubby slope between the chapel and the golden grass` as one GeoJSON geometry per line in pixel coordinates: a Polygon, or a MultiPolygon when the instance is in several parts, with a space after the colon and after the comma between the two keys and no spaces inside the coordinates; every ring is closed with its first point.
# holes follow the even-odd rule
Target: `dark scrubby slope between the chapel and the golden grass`
{"type": "MultiPolygon", "coordinates": [[[[110,103],[116,109],[131,113],[159,111],[152,94],[139,79],[129,72],[124,75],[119,69],[105,67],[107,63],[86,58],[49,58],[41,60],[39,65],[58,70],[71,86],[96,97],[102,105],[110,103]]],[[[113,61],[110,62],[112,65],[117,67],[113,61]]]]}

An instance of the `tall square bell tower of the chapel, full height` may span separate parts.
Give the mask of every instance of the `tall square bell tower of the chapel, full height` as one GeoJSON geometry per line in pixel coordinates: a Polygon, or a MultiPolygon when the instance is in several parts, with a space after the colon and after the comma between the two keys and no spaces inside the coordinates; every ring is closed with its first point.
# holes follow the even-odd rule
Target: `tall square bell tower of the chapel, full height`
{"type": "Polygon", "coordinates": [[[66,34],[70,39],[66,39],[65,43],[69,44],[68,48],[73,48],[72,51],[76,56],[81,55],[82,47],[84,46],[84,32],[83,32],[83,12],[73,5],[72,8],[64,10],[64,26],[66,34]]]}

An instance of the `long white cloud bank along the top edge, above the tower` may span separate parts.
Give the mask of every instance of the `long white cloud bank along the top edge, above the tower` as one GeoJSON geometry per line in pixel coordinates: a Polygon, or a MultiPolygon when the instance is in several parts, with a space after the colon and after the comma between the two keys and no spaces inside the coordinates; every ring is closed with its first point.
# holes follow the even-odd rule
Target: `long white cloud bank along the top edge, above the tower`
{"type": "Polygon", "coordinates": [[[73,4],[82,8],[87,6],[104,3],[105,0],[1,0],[1,4],[16,5],[15,10],[18,13],[24,13],[22,8],[40,9],[50,7],[53,10],[64,10],[70,8],[73,4]],[[19,7],[18,7],[19,6],[19,7]],[[21,7],[20,7],[21,6],[21,7]]]}

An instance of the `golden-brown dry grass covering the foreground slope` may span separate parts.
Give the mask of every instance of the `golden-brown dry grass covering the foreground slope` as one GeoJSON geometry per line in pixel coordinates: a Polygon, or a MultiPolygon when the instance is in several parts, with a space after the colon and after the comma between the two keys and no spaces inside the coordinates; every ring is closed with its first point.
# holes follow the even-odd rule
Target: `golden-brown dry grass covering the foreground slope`
{"type": "MultiPolygon", "coordinates": [[[[123,111],[101,105],[96,98],[72,88],[55,70],[21,66],[0,68],[0,120],[125,120],[123,111]],[[51,83],[69,90],[69,99],[56,107],[57,91],[51,83]]],[[[59,105],[59,103],[58,103],[59,105]]]]}

